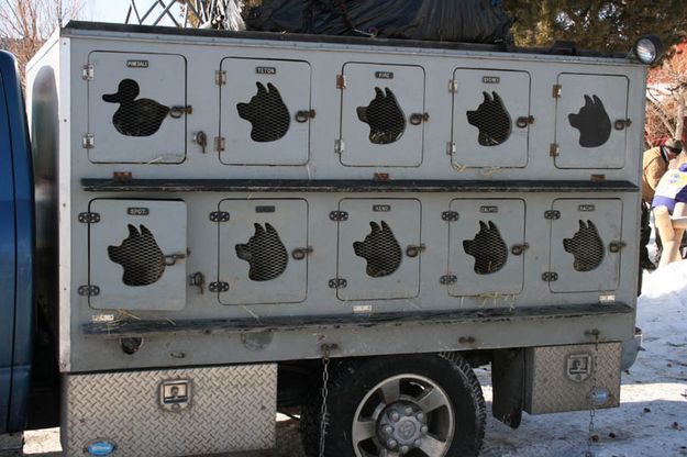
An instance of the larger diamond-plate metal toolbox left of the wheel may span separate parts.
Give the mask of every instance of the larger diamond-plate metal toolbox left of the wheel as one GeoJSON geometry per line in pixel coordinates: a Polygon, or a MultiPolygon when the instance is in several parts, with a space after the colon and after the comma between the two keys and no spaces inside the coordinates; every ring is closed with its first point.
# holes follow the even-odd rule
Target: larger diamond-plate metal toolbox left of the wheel
{"type": "Polygon", "coordinates": [[[275,446],[277,366],[67,375],[66,456],[171,457],[275,446]],[[96,454],[100,455],[100,454],[96,454]]]}

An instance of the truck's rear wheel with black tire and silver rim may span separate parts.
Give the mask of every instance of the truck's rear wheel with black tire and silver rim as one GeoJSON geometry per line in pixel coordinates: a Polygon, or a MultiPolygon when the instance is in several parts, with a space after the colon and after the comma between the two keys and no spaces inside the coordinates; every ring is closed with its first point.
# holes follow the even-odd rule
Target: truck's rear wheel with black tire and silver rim
{"type": "MultiPolygon", "coordinates": [[[[486,406],[470,366],[457,354],[346,361],[329,382],[328,457],[476,456],[486,406]]],[[[319,456],[321,395],[303,408],[306,454],[319,456]]]]}

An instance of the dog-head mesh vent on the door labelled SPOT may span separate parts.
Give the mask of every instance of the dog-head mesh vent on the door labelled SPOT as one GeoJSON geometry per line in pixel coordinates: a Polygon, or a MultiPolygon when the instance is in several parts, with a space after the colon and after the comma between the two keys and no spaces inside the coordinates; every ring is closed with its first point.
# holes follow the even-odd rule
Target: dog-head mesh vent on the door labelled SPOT
{"type": "Polygon", "coordinates": [[[124,268],[126,286],[149,286],[165,272],[165,257],[145,225],[141,231],[129,224],[129,236],[119,246],[108,246],[110,260],[124,268]]]}

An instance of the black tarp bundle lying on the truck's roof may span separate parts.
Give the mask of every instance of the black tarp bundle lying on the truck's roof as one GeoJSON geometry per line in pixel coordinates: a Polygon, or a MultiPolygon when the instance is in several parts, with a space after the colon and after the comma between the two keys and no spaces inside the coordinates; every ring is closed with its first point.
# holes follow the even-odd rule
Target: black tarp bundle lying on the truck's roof
{"type": "Polygon", "coordinates": [[[512,43],[500,0],[264,0],[248,30],[463,43],[512,43]]]}

